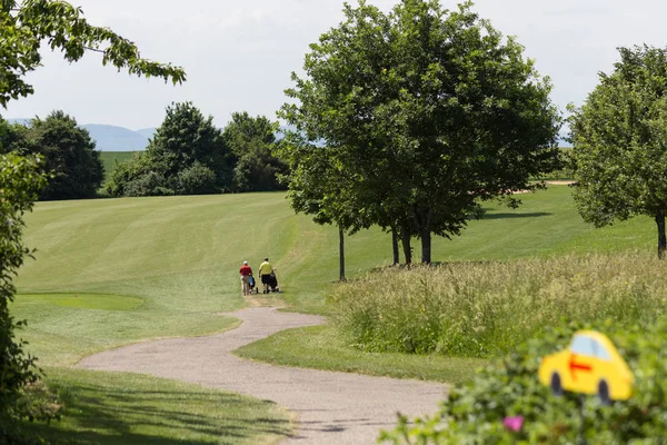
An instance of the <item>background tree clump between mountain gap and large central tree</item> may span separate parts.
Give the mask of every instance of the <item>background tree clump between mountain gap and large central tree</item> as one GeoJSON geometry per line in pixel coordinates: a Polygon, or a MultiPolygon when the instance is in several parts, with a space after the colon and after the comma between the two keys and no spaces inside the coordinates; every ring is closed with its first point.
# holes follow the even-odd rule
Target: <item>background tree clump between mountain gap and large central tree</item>
{"type": "Polygon", "coordinates": [[[113,170],[111,196],[205,195],[267,191],[283,187],[287,166],[273,156],[277,125],[235,112],[220,130],[192,103],[173,103],[150,140],[113,170]]]}

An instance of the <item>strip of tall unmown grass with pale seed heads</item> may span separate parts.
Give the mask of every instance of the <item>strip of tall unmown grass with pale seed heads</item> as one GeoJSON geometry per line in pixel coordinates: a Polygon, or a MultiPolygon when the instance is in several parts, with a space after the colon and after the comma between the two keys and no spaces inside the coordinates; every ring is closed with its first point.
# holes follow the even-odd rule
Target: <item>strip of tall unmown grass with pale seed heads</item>
{"type": "Polygon", "coordinates": [[[395,268],[338,286],[334,323],[370,352],[489,357],[563,320],[651,322],[667,310],[653,256],[565,256],[395,268]]]}

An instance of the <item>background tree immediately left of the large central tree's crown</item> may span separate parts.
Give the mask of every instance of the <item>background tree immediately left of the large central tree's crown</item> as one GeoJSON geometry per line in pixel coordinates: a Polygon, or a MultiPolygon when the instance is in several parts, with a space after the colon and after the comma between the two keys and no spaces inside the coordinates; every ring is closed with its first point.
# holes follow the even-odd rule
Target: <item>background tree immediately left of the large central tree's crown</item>
{"type": "Polygon", "coordinates": [[[236,156],[233,191],[281,190],[278,177],[287,172],[285,162],[275,156],[277,123],[263,116],[233,112],[225,127],[223,138],[236,156]]]}

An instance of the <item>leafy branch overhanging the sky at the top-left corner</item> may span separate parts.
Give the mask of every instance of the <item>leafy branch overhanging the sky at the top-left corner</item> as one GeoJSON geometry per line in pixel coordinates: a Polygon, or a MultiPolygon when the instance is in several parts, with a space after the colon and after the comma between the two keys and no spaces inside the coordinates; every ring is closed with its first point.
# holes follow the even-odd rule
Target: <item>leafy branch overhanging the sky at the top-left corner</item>
{"type": "Polygon", "coordinates": [[[34,92],[23,80],[40,67],[39,50],[48,44],[76,62],[87,51],[101,52],[102,65],[130,75],[157,77],[175,85],[186,80],[182,68],[141,57],[137,46],[109,28],[94,27],[80,8],[64,1],[0,0],[0,105],[34,92]]]}

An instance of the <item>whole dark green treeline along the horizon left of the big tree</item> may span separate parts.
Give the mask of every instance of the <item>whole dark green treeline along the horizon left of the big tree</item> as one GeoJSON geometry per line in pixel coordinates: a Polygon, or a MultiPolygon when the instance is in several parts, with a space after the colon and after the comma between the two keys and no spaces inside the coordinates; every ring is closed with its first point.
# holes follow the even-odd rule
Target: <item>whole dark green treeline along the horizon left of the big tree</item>
{"type": "Polygon", "coordinates": [[[192,103],[172,103],[147,150],[103,162],[88,130],[63,111],[28,126],[0,118],[2,151],[43,158],[49,185],[40,199],[84,199],[104,192],[121,196],[202,195],[285,189],[286,165],[273,156],[277,123],[235,112],[223,129],[192,103]],[[109,169],[111,170],[111,169],[109,169]]]}

